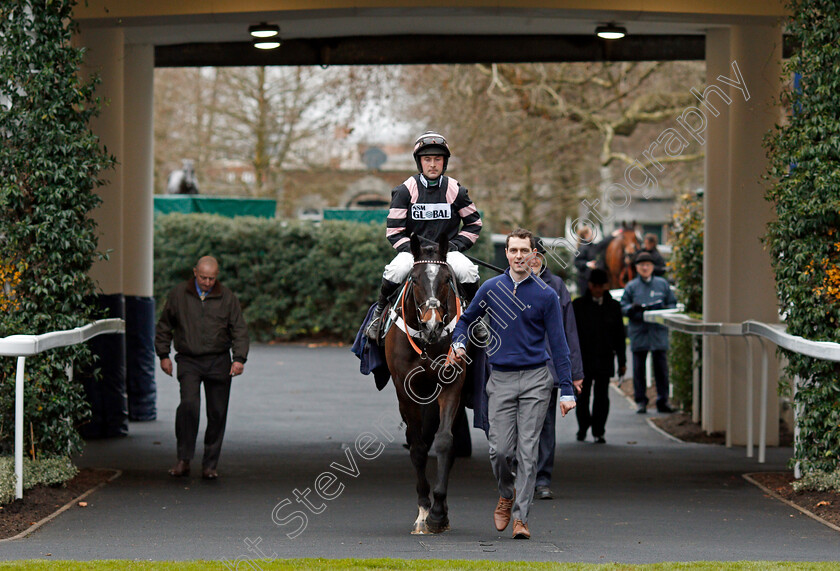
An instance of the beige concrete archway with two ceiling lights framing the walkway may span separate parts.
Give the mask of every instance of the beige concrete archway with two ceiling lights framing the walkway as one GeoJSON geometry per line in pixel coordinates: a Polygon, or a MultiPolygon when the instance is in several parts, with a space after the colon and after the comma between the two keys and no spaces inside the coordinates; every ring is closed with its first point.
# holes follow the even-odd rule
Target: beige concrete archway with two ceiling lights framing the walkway
{"type": "MultiPolygon", "coordinates": [[[[706,92],[697,94],[697,106],[685,116],[700,121],[694,136],[707,153],[705,318],[778,319],[760,237],[773,217],[761,181],[766,170],[761,139],[780,115],[775,98],[781,2],[456,0],[432,8],[412,1],[317,0],[285,6],[278,10],[259,0],[177,5],[91,0],[77,8],[79,42],[89,49],[88,65],[102,74],[102,94],[111,102],[94,129],[121,164],[101,189],[104,202],[96,213],[101,246],[113,250],[110,260],[93,270],[105,294],[152,295],[155,65],[705,59],[706,92]],[[433,17],[423,17],[429,14],[433,17]],[[260,21],[280,24],[286,49],[251,49],[247,27],[260,21]],[[595,27],[605,22],[624,25],[628,37],[610,44],[594,39],[595,27]]],[[[722,345],[704,345],[706,430],[725,426],[729,382],[737,387],[735,409],[742,408],[738,395],[744,393],[746,363],[738,353],[726,360],[722,345]]],[[[773,364],[771,377],[776,373],[773,364]]],[[[771,398],[776,407],[775,394],[771,398]]],[[[777,420],[775,415],[767,420],[770,444],[778,442],[777,420]]],[[[745,441],[742,421],[736,422],[735,443],[745,441]]]]}

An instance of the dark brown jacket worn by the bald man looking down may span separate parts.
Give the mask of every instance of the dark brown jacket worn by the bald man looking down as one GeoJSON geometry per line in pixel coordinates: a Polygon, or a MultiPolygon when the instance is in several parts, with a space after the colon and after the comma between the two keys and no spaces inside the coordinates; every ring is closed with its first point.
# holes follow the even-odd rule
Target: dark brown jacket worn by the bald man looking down
{"type": "Polygon", "coordinates": [[[201,301],[195,279],[178,284],[169,292],[155,332],[155,353],[164,359],[175,340],[175,351],[199,357],[233,349],[233,360],[248,358],[248,326],[239,300],[228,288],[216,282],[201,301]]]}

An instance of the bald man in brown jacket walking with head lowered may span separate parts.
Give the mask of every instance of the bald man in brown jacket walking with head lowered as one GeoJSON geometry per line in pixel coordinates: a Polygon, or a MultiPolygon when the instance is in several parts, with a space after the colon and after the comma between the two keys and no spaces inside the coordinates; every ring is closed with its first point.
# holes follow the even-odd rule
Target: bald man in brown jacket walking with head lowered
{"type": "Polygon", "coordinates": [[[204,383],[207,431],[201,477],[215,480],[219,476],[216,465],[225,436],[231,379],[242,374],[248,358],[248,327],[239,300],[216,281],[219,263],[215,258],[204,256],[198,260],[193,274],[195,279],[169,292],[157,324],[155,352],[160,357],[160,368],[172,376],[169,348],[174,339],[181,403],[175,413],[178,463],[169,474],[180,477],[190,473],[204,383]]]}

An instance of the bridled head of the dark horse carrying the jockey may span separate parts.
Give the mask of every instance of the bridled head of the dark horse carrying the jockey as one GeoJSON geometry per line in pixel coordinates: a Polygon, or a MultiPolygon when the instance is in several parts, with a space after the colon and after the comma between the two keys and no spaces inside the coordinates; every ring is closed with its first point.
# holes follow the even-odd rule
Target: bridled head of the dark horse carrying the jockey
{"type": "MultiPolygon", "coordinates": [[[[437,247],[421,247],[420,239],[412,234],[411,253],[414,268],[411,271],[411,295],[417,315],[417,329],[423,341],[434,344],[446,336],[445,326],[456,314],[455,290],[452,274],[446,263],[449,240],[444,236],[437,247]]],[[[411,309],[406,307],[406,313],[411,309]]],[[[408,315],[404,316],[408,318],[408,315]]]]}

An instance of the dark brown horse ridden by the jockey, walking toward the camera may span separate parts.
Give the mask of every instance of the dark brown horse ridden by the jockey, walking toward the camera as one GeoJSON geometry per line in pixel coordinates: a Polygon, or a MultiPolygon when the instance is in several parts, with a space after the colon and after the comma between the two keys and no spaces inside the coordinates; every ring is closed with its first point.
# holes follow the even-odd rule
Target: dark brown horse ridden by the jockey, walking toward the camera
{"type": "MultiPolygon", "coordinates": [[[[466,369],[449,360],[452,330],[461,315],[461,300],[446,263],[449,241],[421,248],[412,234],[414,267],[392,316],[395,326],[385,336],[385,357],[397,391],[400,415],[417,472],[417,518],[412,534],[441,533],[449,529],[446,503],[449,473],[455,460],[452,426],[458,411],[466,369]],[[440,423],[432,446],[437,455],[437,477],[430,490],[426,478],[429,445],[423,438],[424,405],[437,401],[440,423]],[[432,492],[432,500],[429,492],[432,492]]],[[[428,416],[426,422],[428,421],[428,416]]]]}

